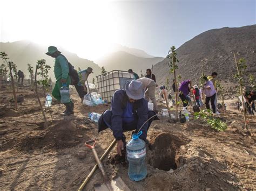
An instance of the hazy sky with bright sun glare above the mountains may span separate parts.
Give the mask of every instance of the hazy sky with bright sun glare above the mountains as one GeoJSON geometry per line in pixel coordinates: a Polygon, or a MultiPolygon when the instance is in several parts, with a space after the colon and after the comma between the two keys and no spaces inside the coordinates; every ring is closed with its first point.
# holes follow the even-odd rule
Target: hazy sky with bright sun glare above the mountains
{"type": "Polygon", "coordinates": [[[113,43],[166,56],[201,32],[256,20],[255,0],[0,2],[0,41],[59,45],[90,60],[113,43]]]}

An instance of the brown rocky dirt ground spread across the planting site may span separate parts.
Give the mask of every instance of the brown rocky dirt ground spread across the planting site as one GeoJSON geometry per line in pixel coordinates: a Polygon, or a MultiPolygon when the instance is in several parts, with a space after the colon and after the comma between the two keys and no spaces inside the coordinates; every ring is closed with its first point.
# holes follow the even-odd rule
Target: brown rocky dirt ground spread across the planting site
{"type": "MultiPolygon", "coordinates": [[[[0,189],[1,190],[77,190],[96,164],[84,142],[97,138],[96,151],[102,155],[113,141],[112,132],[98,133],[88,112],[101,113],[110,105],[86,107],[73,93],[75,115],[59,117],[64,105],[53,100],[49,121],[43,116],[35,93],[19,89],[24,102],[14,110],[11,89],[6,86],[0,97],[0,189]]],[[[41,94],[42,103],[44,95],[41,94]]],[[[146,179],[131,181],[128,164],[117,160],[116,148],[103,160],[107,175],[118,174],[131,190],[254,190],[255,137],[242,129],[242,115],[235,110],[236,100],[228,100],[227,111],[220,118],[227,122],[225,132],[217,132],[199,119],[169,123],[165,117],[154,121],[148,132],[146,179]]],[[[160,107],[164,107],[160,105],[160,107]]],[[[250,118],[256,135],[256,118],[250,118]]],[[[129,139],[131,133],[126,133],[129,139]]],[[[102,183],[97,169],[84,190],[102,183]]]]}

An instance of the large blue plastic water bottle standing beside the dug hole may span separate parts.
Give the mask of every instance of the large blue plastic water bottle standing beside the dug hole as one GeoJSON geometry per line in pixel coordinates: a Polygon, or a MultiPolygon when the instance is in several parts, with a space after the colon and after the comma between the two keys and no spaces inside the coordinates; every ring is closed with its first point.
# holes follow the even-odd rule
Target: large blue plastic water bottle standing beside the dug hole
{"type": "Polygon", "coordinates": [[[133,181],[143,180],[147,175],[146,144],[140,139],[142,131],[134,133],[126,144],[127,160],[129,161],[128,176],[133,181]]]}

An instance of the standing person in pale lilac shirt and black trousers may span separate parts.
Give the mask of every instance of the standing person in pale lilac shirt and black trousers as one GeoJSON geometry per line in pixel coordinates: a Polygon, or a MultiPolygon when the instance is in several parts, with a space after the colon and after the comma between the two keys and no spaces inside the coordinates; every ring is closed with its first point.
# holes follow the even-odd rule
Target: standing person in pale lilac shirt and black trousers
{"type": "Polygon", "coordinates": [[[206,76],[204,76],[203,79],[205,81],[203,91],[206,96],[205,98],[206,108],[210,109],[209,102],[211,101],[212,110],[213,110],[213,113],[215,114],[216,113],[216,105],[215,105],[216,90],[214,88],[212,81],[208,80],[206,76]]]}

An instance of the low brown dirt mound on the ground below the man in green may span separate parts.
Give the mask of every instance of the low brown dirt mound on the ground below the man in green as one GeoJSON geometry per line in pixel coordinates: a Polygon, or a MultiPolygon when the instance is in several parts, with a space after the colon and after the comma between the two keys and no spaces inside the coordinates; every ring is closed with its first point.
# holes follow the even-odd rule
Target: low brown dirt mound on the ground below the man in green
{"type": "Polygon", "coordinates": [[[58,121],[38,135],[23,138],[19,147],[22,150],[72,147],[83,142],[83,134],[84,130],[76,122],[58,121]]]}

